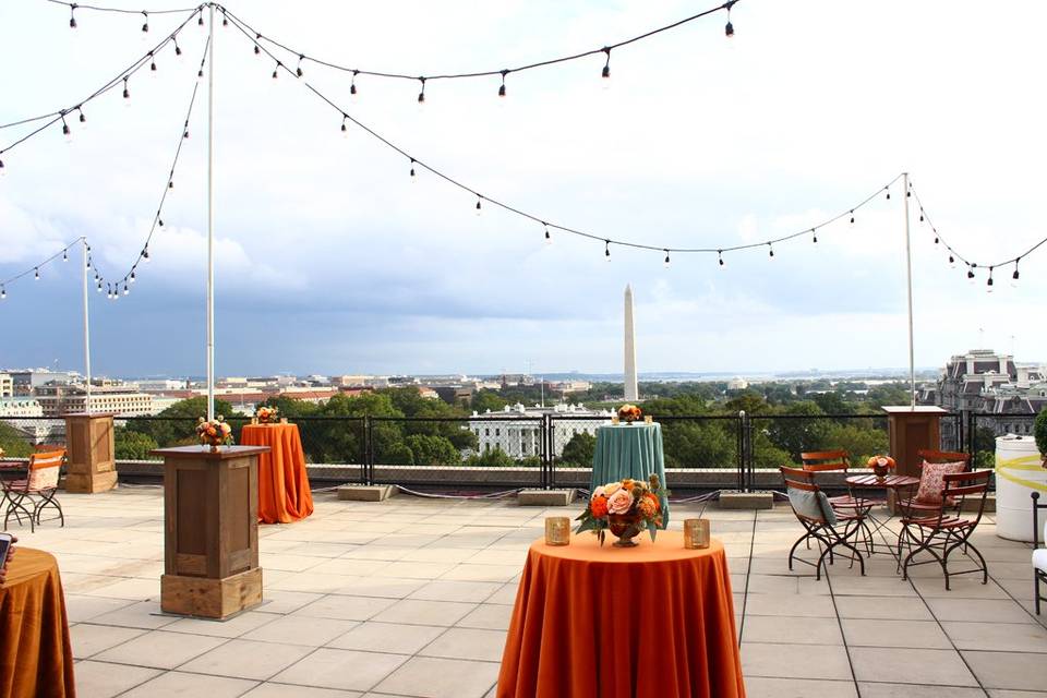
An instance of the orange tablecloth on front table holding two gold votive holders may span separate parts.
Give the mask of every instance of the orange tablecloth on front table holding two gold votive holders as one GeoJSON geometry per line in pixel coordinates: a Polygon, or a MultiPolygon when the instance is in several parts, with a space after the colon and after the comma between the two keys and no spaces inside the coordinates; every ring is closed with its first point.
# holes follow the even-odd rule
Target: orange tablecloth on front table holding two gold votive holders
{"type": "Polygon", "coordinates": [[[684,550],[678,531],[633,549],[607,539],[531,545],[498,698],[744,697],[723,545],[684,550]]]}

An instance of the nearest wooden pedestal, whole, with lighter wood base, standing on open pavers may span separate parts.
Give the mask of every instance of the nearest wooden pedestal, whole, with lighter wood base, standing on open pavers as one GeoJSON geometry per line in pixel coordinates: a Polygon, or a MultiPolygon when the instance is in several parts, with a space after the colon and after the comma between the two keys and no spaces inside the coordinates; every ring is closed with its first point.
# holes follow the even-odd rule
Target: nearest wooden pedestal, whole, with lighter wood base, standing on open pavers
{"type": "Polygon", "coordinates": [[[159,448],[164,456],[165,613],[225,618],[262,603],[261,446],[159,448]]]}

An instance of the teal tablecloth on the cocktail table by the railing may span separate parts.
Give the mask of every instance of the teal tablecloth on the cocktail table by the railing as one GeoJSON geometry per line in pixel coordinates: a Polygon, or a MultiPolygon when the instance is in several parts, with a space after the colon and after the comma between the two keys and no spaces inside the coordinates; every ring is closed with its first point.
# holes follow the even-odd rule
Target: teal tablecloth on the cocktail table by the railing
{"type": "MultiPolygon", "coordinates": [[[[647,480],[657,473],[665,482],[665,455],[662,452],[662,425],[658,423],[607,424],[597,428],[597,452],[592,456],[590,490],[631,478],[647,480]]],[[[669,501],[663,496],[662,528],[669,526],[669,501]]]]}

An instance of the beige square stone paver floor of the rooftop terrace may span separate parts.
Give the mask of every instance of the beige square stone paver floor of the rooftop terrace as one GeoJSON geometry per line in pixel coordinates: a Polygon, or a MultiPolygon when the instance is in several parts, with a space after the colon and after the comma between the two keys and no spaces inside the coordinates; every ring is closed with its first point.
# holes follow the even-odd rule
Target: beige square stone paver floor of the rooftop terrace
{"type": "MultiPolygon", "coordinates": [[[[265,603],[216,623],[159,614],[159,488],[60,498],[65,528],[13,530],[58,556],[82,698],[493,696],[525,552],[564,514],[317,493],[305,521],[261,528],[265,603]]],[[[675,527],[697,510],[677,505],[675,527]]],[[[864,578],[839,561],[821,581],[790,573],[801,529],[787,508],[706,516],[730,557],[749,696],[1047,696],[1030,546],[991,519],[976,534],[989,583],[947,592],[935,566],[903,581],[887,556],[864,578]]]]}

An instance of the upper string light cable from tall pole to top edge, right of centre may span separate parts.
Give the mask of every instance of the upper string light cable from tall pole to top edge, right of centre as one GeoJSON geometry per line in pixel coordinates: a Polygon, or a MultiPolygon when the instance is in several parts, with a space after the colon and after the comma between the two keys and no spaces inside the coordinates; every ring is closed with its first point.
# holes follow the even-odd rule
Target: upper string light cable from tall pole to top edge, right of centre
{"type": "MultiPolygon", "coordinates": [[[[51,1],[52,1],[52,2],[57,2],[58,0],[51,0],[51,1]]],[[[642,34],[638,34],[638,35],[636,35],[636,36],[634,36],[634,37],[631,37],[631,38],[625,39],[625,40],[623,40],[623,41],[617,41],[616,44],[607,44],[607,45],[602,46],[602,47],[600,47],[600,48],[594,48],[594,49],[585,50],[585,51],[578,51],[578,52],[576,52],[576,53],[570,53],[570,55],[567,55],[567,56],[559,56],[559,57],[556,57],[556,58],[550,58],[550,59],[537,61],[537,62],[533,62],[533,63],[525,63],[525,64],[517,65],[516,68],[500,68],[500,69],[490,69],[490,70],[486,70],[486,69],[485,69],[485,70],[467,71],[467,72],[462,72],[462,73],[433,73],[433,74],[429,74],[429,73],[413,73],[413,74],[408,74],[408,73],[396,73],[396,72],[389,72],[389,71],[369,70],[369,69],[364,69],[364,68],[356,68],[356,67],[351,67],[351,65],[344,65],[344,64],[340,64],[340,63],[336,63],[336,62],[334,62],[334,61],[328,61],[328,60],[324,60],[324,59],[317,58],[317,57],[315,57],[315,56],[310,56],[309,53],[306,53],[306,52],[304,52],[304,51],[301,51],[301,50],[291,48],[290,46],[288,46],[288,45],[287,45],[286,43],[284,43],[284,41],[277,40],[277,39],[273,38],[272,36],[267,36],[267,35],[262,34],[261,32],[256,31],[254,27],[252,27],[251,25],[249,25],[246,22],[244,22],[242,19],[240,19],[239,16],[237,16],[236,14],[233,14],[231,11],[229,11],[229,9],[226,8],[225,5],[221,5],[221,4],[217,4],[217,3],[216,3],[215,7],[217,7],[218,10],[219,10],[219,11],[221,12],[221,14],[222,14],[222,24],[226,24],[226,21],[229,20],[229,21],[232,21],[232,22],[236,22],[236,23],[240,24],[240,26],[241,26],[242,29],[245,28],[248,32],[250,32],[248,38],[250,38],[250,39],[252,40],[252,43],[254,44],[254,52],[255,52],[255,53],[260,53],[260,52],[261,52],[262,47],[260,46],[260,44],[261,44],[262,41],[265,41],[265,43],[267,43],[269,46],[275,47],[275,48],[278,48],[278,49],[280,49],[281,51],[286,51],[290,57],[292,57],[292,59],[296,61],[296,70],[294,70],[294,73],[296,73],[296,75],[297,75],[298,77],[301,77],[301,76],[304,74],[304,70],[302,69],[302,63],[308,61],[308,62],[314,63],[314,64],[316,64],[316,65],[322,65],[322,67],[324,67],[324,68],[329,68],[329,69],[333,69],[333,70],[337,70],[337,71],[341,71],[341,72],[344,72],[344,73],[349,73],[349,74],[351,74],[351,75],[352,75],[352,91],[351,91],[352,94],[357,94],[357,89],[356,89],[356,79],[357,79],[357,76],[359,76],[359,75],[366,75],[366,76],[370,76],[370,77],[383,77],[383,79],[393,79],[393,80],[409,80],[409,81],[414,81],[414,82],[420,83],[420,85],[421,85],[421,91],[419,92],[419,96],[418,96],[418,101],[421,103],[421,101],[424,101],[424,99],[425,99],[424,95],[425,95],[425,85],[426,85],[426,83],[432,82],[432,81],[434,81],[434,80],[460,80],[460,79],[474,79],[474,77],[497,77],[497,79],[500,79],[500,81],[501,81],[500,86],[498,86],[498,93],[497,93],[497,94],[498,94],[500,97],[504,97],[505,94],[506,94],[505,79],[506,79],[507,75],[509,75],[509,74],[512,74],[512,73],[520,73],[520,72],[524,72],[524,71],[534,70],[534,69],[538,69],[538,68],[546,68],[546,67],[549,67],[549,65],[556,65],[556,64],[566,63],[566,62],[569,62],[569,61],[577,61],[577,60],[581,60],[581,59],[589,58],[589,57],[592,57],[592,56],[601,56],[601,55],[605,56],[605,62],[604,62],[604,65],[603,65],[602,75],[603,75],[603,77],[610,77],[610,76],[611,76],[611,51],[613,51],[613,50],[615,50],[615,49],[619,49],[619,48],[625,47],[625,46],[629,46],[630,44],[636,44],[636,43],[638,43],[638,41],[642,41],[642,40],[645,40],[645,39],[651,38],[652,36],[657,36],[657,35],[659,35],[659,34],[661,34],[661,33],[663,33],[663,32],[669,32],[669,31],[671,31],[671,29],[675,29],[675,28],[677,28],[677,27],[684,26],[684,25],[686,25],[686,24],[689,24],[689,23],[691,23],[691,22],[695,22],[695,21],[700,20],[700,19],[706,17],[706,16],[709,16],[709,15],[714,14],[714,13],[717,13],[717,12],[724,12],[724,11],[726,12],[726,14],[727,14],[727,23],[726,23],[726,25],[725,25],[725,27],[724,27],[724,34],[725,34],[727,37],[734,36],[734,25],[731,23],[731,9],[732,9],[735,4],[737,4],[737,2],[738,2],[738,0],[727,0],[727,1],[724,2],[723,4],[720,4],[720,5],[715,7],[715,8],[711,8],[711,9],[709,9],[709,10],[705,10],[705,11],[699,12],[699,13],[697,13],[697,14],[693,14],[693,15],[690,15],[690,16],[687,16],[687,17],[684,17],[684,19],[678,20],[678,21],[676,21],[676,22],[673,22],[672,24],[666,24],[666,25],[664,25],[664,26],[657,27],[657,28],[651,29],[651,31],[649,31],[649,32],[645,32],[645,33],[642,33],[642,34]]],[[[267,52],[270,57],[273,57],[273,53],[270,53],[269,51],[266,51],[266,52],[267,52]]],[[[273,58],[275,58],[275,57],[273,57],[273,58]]],[[[282,62],[286,63],[286,62],[288,62],[288,61],[285,60],[285,61],[282,61],[282,62]]]]}

